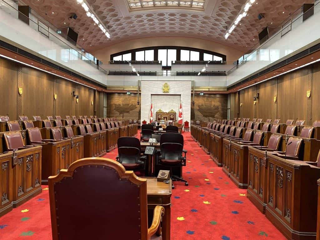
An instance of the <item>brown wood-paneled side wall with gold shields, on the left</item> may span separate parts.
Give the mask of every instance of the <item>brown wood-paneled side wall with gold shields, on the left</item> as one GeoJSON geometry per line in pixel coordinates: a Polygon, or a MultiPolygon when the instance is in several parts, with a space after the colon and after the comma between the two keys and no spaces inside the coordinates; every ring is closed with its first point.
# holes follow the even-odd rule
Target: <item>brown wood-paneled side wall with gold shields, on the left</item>
{"type": "Polygon", "coordinates": [[[0,58],[0,115],[9,115],[10,120],[17,120],[19,115],[29,119],[33,115],[42,119],[54,115],[100,116],[99,104],[99,92],[91,88],[0,58]],[[22,87],[21,95],[18,87],[22,87]],[[73,92],[79,95],[78,103],[73,92]]]}

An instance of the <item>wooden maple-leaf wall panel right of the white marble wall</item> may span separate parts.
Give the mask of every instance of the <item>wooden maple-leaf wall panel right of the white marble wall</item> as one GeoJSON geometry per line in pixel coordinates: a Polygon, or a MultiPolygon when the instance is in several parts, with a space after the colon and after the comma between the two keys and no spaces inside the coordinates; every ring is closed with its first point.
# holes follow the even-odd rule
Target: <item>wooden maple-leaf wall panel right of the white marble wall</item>
{"type": "Polygon", "coordinates": [[[191,104],[191,120],[213,121],[227,117],[228,94],[195,95],[195,105],[191,104]]]}

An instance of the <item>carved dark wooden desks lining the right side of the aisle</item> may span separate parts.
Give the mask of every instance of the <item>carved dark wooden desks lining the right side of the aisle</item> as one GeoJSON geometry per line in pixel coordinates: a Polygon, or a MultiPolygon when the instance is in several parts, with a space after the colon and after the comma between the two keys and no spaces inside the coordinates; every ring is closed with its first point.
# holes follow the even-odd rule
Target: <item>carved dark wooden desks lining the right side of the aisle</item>
{"type": "MultiPolygon", "coordinates": [[[[248,199],[266,214],[286,238],[316,239],[317,179],[320,178],[320,168],[303,161],[316,161],[320,141],[303,139],[299,154],[299,159],[303,161],[293,161],[260,150],[259,146],[242,144],[222,134],[210,133],[204,127],[194,126],[193,137],[196,136],[200,145],[208,144],[205,141],[206,131],[210,134],[209,153],[212,159],[218,166],[222,165],[223,172],[239,188],[247,188],[248,199]]],[[[263,133],[267,140],[270,135],[270,132],[263,133]]],[[[282,137],[279,150],[285,151],[287,138],[283,134],[278,135],[282,137]]],[[[267,143],[264,140],[262,145],[266,146],[267,143]]],[[[319,209],[318,212],[317,239],[320,239],[319,209]]]]}

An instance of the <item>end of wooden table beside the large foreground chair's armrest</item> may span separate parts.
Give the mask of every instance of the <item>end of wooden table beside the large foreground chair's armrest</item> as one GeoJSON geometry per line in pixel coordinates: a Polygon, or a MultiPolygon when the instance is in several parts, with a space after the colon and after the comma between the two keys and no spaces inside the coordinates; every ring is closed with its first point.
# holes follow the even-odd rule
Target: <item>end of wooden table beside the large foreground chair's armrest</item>
{"type": "Polygon", "coordinates": [[[171,224],[171,180],[169,183],[158,182],[156,178],[147,179],[148,209],[154,209],[157,205],[164,207],[162,217],[162,239],[170,240],[171,224]]]}

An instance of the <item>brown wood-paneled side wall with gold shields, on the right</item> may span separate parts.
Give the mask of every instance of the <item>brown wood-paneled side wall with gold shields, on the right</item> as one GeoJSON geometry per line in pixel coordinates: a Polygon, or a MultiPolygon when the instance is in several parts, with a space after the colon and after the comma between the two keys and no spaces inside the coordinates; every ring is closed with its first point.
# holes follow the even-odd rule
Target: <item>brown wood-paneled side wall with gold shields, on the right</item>
{"type": "Polygon", "coordinates": [[[317,63],[241,90],[239,104],[236,104],[238,93],[232,93],[231,100],[234,99],[235,104],[232,107],[231,102],[233,109],[230,110],[230,118],[263,118],[263,121],[280,118],[281,123],[287,119],[302,119],[306,120],[306,124],[312,124],[320,120],[317,109],[320,101],[319,79],[320,63],[317,63]],[[311,91],[310,98],[307,97],[308,90],[311,91]],[[254,105],[253,96],[257,93],[260,98],[254,105]],[[240,108],[239,116],[236,114],[237,108],[240,108]]]}

